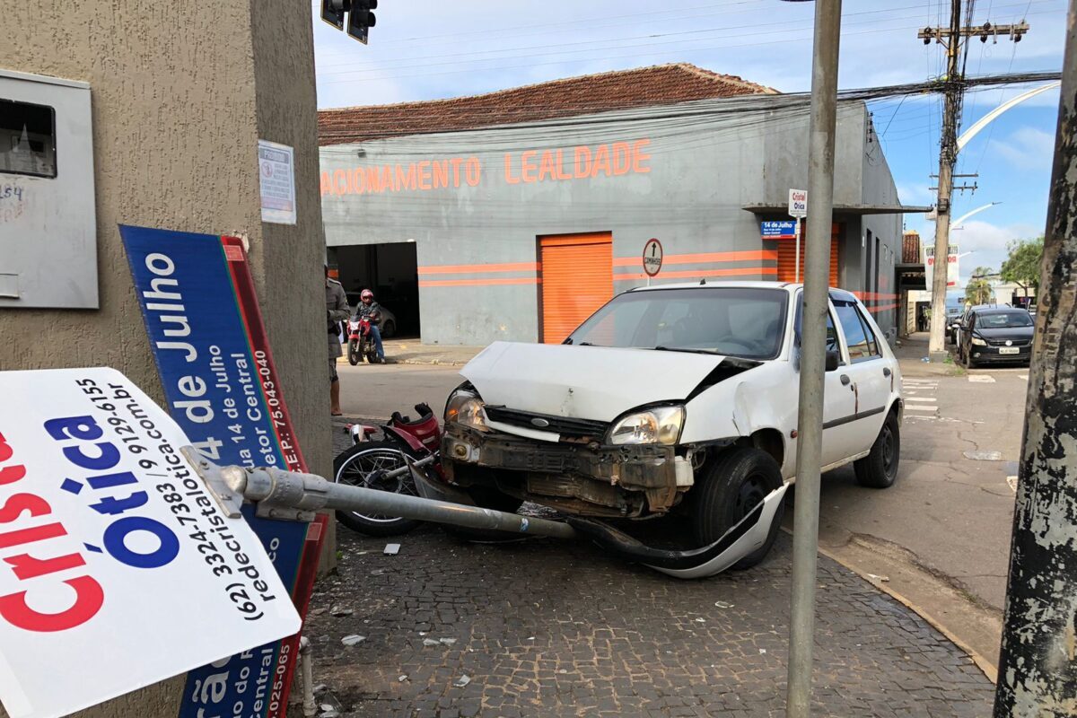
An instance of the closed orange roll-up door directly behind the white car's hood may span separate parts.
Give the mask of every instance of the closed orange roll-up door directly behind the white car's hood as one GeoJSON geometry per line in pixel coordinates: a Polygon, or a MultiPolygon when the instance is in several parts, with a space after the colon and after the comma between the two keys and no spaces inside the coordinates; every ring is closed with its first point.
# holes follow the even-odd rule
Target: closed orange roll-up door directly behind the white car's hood
{"type": "Polygon", "coordinates": [[[559,343],[613,297],[613,235],[538,238],[542,340],[559,343]]]}

